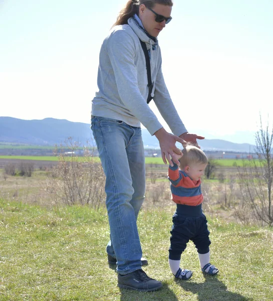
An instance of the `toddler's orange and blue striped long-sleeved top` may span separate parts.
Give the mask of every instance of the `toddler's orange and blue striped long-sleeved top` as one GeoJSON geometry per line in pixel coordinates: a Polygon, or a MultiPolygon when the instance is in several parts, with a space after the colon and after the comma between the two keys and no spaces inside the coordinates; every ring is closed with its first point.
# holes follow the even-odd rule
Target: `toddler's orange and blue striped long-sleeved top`
{"type": "Polygon", "coordinates": [[[197,206],[203,202],[201,181],[192,180],[185,172],[180,171],[174,163],[169,166],[168,179],[171,184],[172,200],[177,204],[197,206]]]}

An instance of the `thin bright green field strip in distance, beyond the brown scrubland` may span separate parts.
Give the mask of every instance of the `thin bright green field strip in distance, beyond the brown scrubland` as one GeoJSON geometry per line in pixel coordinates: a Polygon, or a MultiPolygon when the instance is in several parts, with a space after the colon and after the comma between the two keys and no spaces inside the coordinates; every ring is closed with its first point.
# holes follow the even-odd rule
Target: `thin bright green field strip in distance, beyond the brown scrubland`
{"type": "MultiPolygon", "coordinates": [[[[68,160],[70,157],[67,157],[68,160]]],[[[79,157],[81,158],[81,157],[79,157]]],[[[19,160],[37,160],[37,161],[58,161],[58,157],[54,156],[0,156],[0,159],[19,159],[19,160]]],[[[97,158],[99,160],[99,158],[97,158]]],[[[146,157],[146,164],[164,164],[161,157],[146,157]]],[[[243,160],[241,159],[217,159],[216,165],[222,167],[234,167],[243,165],[243,160]]]]}

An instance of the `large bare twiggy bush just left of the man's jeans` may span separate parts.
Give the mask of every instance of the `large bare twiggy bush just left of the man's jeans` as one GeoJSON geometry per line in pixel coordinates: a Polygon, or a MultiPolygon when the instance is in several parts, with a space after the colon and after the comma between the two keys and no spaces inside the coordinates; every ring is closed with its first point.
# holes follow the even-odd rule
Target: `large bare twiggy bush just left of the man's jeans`
{"type": "Polygon", "coordinates": [[[99,208],[105,200],[105,176],[101,163],[95,161],[88,147],[85,147],[83,157],[77,157],[79,145],[71,138],[67,143],[70,155],[59,152],[59,164],[48,174],[45,189],[55,203],[90,204],[99,208]]]}

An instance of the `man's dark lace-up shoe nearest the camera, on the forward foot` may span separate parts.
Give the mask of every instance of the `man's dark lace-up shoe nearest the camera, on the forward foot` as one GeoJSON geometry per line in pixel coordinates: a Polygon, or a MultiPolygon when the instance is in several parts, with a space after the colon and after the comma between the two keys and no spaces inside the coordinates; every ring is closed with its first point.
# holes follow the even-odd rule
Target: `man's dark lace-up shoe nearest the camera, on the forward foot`
{"type": "Polygon", "coordinates": [[[138,269],[126,275],[118,273],[118,287],[138,291],[154,291],[161,288],[162,283],[147,276],[142,269],[138,269]]]}

